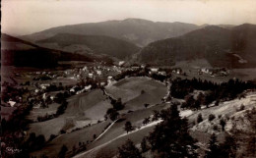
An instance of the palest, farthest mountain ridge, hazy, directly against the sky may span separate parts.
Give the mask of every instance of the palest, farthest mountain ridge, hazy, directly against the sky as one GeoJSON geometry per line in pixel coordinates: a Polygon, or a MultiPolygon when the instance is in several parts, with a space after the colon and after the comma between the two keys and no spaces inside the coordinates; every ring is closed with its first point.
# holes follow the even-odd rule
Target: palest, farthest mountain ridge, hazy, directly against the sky
{"type": "Polygon", "coordinates": [[[141,19],[126,19],[123,21],[106,21],[72,26],[58,26],[40,32],[23,36],[22,38],[35,41],[46,39],[57,33],[74,33],[81,35],[106,35],[130,41],[138,46],[150,42],[179,36],[199,26],[183,23],[154,23],[141,19]]]}

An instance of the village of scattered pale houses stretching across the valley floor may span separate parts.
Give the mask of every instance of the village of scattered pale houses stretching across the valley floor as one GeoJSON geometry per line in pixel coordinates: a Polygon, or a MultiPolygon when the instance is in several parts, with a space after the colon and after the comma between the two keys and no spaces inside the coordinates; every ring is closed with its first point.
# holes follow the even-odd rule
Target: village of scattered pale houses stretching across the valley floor
{"type": "MultiPolygon", "coordinates": [[[[24,88],[30,91],[38,104],[33,108],[45,108],[45,100],[54,101],[56,94],[59,92],[66,92],[69,95],[77,95],[83,92],[89,92],[94,88],[101,88],[115,83],[119,76],[126,72],[139,72],[145,71],[145,76],[150,77],[159,75],[162,78],[176,76],[179,78],[186,78],[187,76],[206,76],[206,77],[227,77],[229,70],[202,68],[196,70],[182,70],[181,68],[159,68],[149,65],[133,65],[125,66],[125,61],[119,61],[114,66],[104,66],[102,63],[88,64],[84,67],[77,67],[60,71],[33,71],[26,73],[14,73],[14,78],[10,77],[15,87],[24,88]],[[16,81],[21,80],[20,82],[16,81]],[[42,101],[44,100],[44,101],[42,101]]],[[[129,78],[129,74],[125,76],[129,78]]],[[[164,79],[166,81],[166,79],[164,79]]],[[[163,81],[163,80],[162,80],[163,81]]],[[[8,82],[3,83],[3,89],[8,86],[8,82]]],[[[5,96],[5,95],[4,95],[5,96]]],[[[22,102],[22,96],[10,96],[4,98],[5,102],[2,105],[6,107],[18,107],[22,102]]]]}

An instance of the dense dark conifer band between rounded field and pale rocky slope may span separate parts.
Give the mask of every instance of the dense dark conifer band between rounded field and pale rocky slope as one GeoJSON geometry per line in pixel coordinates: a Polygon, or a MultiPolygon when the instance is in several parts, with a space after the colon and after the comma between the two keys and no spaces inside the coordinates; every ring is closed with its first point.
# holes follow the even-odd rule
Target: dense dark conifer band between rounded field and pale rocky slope
{"type": "Polygon", "coordinates": [[[181,108],[198,110],[201,105],[209,106],[213,101],[219,105],[221,100],[230,100],[236,98],[239,94],[250,88],[255,88],[253,82],[245,82],[238,79],[229,79],[227,82],[215,83],[201,79],[174,79],[170,86],[170,96],[185,99],[181,108]],[[205,94],[199,93],[196,99],[189,93],[194,90],[204,90],[205,94]]]}

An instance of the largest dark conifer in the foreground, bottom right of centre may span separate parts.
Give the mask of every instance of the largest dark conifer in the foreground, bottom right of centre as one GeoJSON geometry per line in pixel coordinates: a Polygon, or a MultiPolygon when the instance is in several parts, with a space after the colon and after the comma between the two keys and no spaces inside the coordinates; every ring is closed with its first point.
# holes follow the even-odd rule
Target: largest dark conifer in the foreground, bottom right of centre
{"type": "Polygon", "coordinates": [[[150,133],[149,142],[152,150],[160,157],[197,157],[195,140],[188,132],[187,119],[181,119],[177,105],[161,111],[163,120],[150,133]]]}

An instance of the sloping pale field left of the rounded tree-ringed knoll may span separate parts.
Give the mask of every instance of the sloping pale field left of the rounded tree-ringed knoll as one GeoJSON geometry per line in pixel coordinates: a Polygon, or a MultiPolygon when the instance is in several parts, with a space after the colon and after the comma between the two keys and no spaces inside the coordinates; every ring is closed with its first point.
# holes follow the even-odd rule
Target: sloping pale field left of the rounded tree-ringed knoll
{"type": "Polygon", "coordinates": [[[45,122],[31,124],[30,132],[35,132],[36,135],[44,134],[48,139],[50,134],[58,134],[63,128],[65,131],[72,131],[89,124],[96,124],[98,120],[103,120],[106,110],[111,107],[99,89],[74,95],[67,101],[68,107],[63,115],[45,122]]]}

